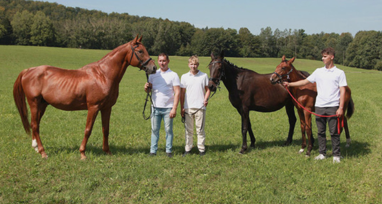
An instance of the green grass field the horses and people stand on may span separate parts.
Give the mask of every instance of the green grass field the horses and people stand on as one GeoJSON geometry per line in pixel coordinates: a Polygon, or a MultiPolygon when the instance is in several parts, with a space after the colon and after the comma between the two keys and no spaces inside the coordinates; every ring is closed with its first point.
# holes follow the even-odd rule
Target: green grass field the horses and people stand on
{"type": "MultiPolygon", "coordinates": [[[[206,118],[207,154],[182,157],[184,127],[174,120],[174,158],[164,154],[161,132],[157,157],[149,157],[151,125],[142,117],[145,73],[128,67],[110,120],[113,156],[102,151],[100,116],[87,143],[87,160],[79,147],[86,111],[67,112],[48,107],[40,134],[49,159],[31,146],[14,105],[12,90],[18,73],[37,65],[77,69],[98,61],[108,50],[0,46],[0,203],[381,203],[382,202],[382,74],[339,65],[352,89],[355,113],[349,120],[350,148],[341,137],[344,159],[314,161],[298,154],[299,122],[291,146],[285,110],[251,112],[256,147],[239,155],[241,119],[222,84],[209,101],[206,118]]],[[[157,57],[153,57],[157,59],[157,57]]],[[[179,76],[188,71],[187,57],[170,57],[179,76]]],[[[227,58],[259,73],[273,72],[281,59],[227,58]]],[[[199,69],[210,58],[200,59],[199,69]]],[[[313,72],[320,61],[296,59],[295,67],[313,72]]],[[[313,117],[314,118],[314,117],[313,117]]],[[[313,131],[316,125],[313,121],[313,131]]],[[[314,135],[317,138],[316,134],[314,135]]],[[[248,137],[249,139],[249,137],[248,137]]],[[[330,137],[328,155],[331,154],[330,137]]],[[[316,140],[317,141],[317,140],[316,140]]]]}

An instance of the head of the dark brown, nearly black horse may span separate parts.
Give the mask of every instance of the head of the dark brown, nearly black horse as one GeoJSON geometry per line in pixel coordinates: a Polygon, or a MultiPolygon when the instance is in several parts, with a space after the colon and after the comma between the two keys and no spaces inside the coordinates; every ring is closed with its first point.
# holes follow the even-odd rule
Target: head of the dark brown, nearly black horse
{"type": "Polygon", "coordinates": [[[208,88],[210,91],[216,91],[217,87],[219,87],[220,80],[223,77],[223,68],[224,68],[224,52],[220,54],[220,56],[214,56],[211,53],[211,62],[208,65],[209,68],[209,82],[208,88]]]}

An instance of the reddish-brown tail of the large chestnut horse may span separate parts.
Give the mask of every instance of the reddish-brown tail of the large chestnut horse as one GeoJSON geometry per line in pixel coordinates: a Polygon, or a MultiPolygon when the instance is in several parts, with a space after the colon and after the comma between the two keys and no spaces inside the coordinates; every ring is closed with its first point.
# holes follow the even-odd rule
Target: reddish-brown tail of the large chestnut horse
{"type": "Polygon", "coordinates": [[[25,93],[21,86],[22,76],[27,72],[28,69],[22,70],[13,85],[13,99],[15,100],[18,113],[21,116],[22,125],[24,126],[25,132],[31,134],[31,124],[28,120],[28,108],[25,100],[25,93]]]}

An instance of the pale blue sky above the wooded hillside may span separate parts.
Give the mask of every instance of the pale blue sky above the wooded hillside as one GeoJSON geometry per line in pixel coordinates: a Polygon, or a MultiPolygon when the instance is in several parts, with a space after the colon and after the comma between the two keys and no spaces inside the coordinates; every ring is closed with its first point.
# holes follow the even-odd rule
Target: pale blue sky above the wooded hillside
{"type": "MultiPolygon", "coordinates": [[[[42,0],[45,1],[46,0],[42,0]]],[[[48,0],[66,7],[184,21],[196,28],[247,28],[253,35],[270,27],[306,34],[382,31],[380,0],[48,0]]]]}

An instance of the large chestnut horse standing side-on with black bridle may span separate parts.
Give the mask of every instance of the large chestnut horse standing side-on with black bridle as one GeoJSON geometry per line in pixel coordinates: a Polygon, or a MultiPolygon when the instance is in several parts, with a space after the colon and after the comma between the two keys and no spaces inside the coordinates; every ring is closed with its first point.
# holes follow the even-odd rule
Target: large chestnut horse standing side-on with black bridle
{"type": "Polygon", "coordinates": [[[85,148],[91,130],[101,111],[104,135],[102,149],[109,150],[109,122],[111,107],[116,103],[119,85],[129,65],[155,73],[156,66],[138,35],[130,42],[118,46],[98,62],[93,62],[77,70],[67,70],[42,65],[24,69],[13,86],[13,97],[21,116],[25,131],[32,128],[32,146],[47,158],[42,146],[39,129],[40,121],[48,105],[65,111],[87,110],[85,136],[80,146],[81,159],[86,159],[85,148]],[[27,98],[31,110],[28,121],[27,98]]]}

